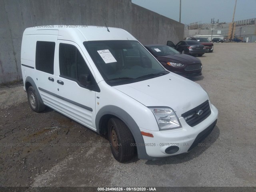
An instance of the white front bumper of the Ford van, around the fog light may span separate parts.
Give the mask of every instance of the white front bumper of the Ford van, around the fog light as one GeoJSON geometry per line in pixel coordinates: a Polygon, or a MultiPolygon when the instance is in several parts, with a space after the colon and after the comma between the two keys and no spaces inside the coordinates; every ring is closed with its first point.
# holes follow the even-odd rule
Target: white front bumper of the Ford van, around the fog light
{"type": "Polygon", "coordinates": [[[218,118],[217,108],[210,103],[211,114],[204,121],[194,127],[190,127],[183,117],[180,117],[182,128],[166,131],[149,131],[140,128],[140,131],[150,132],[154,137],[143,136],[146,153],[150,157],[166,157],[186,153],[196,147],[206,136],[208,136],[218,118]],[[166,149],[177,146],[178,151],[167,154],[166,149]]]}

